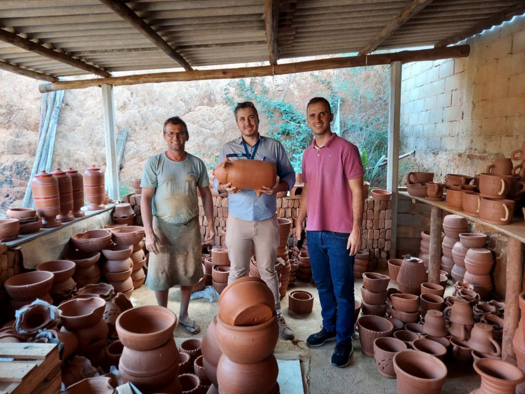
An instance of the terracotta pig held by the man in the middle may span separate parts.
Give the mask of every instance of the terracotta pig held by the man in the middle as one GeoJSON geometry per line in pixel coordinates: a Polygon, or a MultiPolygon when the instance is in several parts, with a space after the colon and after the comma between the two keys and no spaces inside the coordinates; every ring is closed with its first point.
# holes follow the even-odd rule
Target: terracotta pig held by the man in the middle
{"type": "Polygon", "coordinates": [[[277,179],[275,165],[262,160],[232,161],[224,158],[212,173],[220,183],[232,183],[232,187],[239,190],[253,190],[258,197],[262,186],[271,188],[277,179]]]}

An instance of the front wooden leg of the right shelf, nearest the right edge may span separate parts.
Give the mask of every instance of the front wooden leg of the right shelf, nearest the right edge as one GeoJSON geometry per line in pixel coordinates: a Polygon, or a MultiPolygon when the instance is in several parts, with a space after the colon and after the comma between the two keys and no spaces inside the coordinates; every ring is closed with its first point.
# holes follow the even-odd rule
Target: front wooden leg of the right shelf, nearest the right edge
{"type": "Polygon", "coordinates": [[[503,320],[503,340],[501,343],[501,359],[503,360],[508,357],[516,357],[512,349],[512,338],[520,319],[518,294],[521,293],[523,276],[523,244],[520,240],[510,236],[507,242],[505,320],[503,320]]]}

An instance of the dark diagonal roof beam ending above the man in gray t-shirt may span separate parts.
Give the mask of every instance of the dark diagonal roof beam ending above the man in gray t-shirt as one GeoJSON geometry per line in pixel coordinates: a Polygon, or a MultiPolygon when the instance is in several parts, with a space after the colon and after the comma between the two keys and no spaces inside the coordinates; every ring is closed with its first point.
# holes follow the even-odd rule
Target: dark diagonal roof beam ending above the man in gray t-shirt
{"type": "Polygon", "coordinates": [[[150,25],[144,22],[143,19],[139,18],[133,10],[125,5],[120,0],[99,0],[102,4],[110,8],[114,13],[128,22],[131,26],[137,29],[144,37],[148,38],[153,44],[158,46],[167,56],[171,57],[178,64],[180,64],[186,71],[192,70],[192,66],[180,55],[170,44],[166,43],[164,39],[159,36],[151,28],[150,25]]]}

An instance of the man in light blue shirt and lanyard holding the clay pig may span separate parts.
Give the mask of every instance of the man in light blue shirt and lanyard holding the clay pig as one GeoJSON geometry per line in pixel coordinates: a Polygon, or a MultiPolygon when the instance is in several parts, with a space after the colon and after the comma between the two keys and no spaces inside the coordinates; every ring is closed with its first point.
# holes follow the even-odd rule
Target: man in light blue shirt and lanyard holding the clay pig
{"type": "Polygon", "coordinates": [[[279,335],[293,339],[293,331],[281,315],[279,280],[275,270],[279,225],[277,223],[277,193],[288,191],[295,184],[295,171],[281,143],[259,134],[259,115],[253,103],[240,102],[235,108],[235,120],[241,136],[224,144],[218,163],[230,160],[264,160],[276,165],[279,182],[264,186],[257,197],[254,190],[238,190],[230,183],[221,184],[214,179],[217,193],[228,193],[228,222],[226,244],[232,264],[228,284],[248,276],[251,246],[255,249],[255,260],[261,275],[275,298],[279,335]]]}

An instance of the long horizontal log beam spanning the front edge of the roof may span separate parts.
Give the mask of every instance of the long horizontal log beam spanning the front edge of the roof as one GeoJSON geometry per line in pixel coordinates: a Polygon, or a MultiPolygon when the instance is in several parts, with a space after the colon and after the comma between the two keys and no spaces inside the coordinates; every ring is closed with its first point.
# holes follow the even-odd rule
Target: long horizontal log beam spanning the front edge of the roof
{"type": "Polygon", "coordinates": [[[275,66],[258,66],[243,68],[221,68],[214,70],[193,70],[182,72],[156,72],[154,74],[128,75],[124,77],[83,79],[75,81],[53,82],[40,84],[40,92],[49,92],[61,89],[83,89],[93,86],[109,84],[113,86],[158,84],[160,82],[194,81],[206,79],[233,79],[249,77],[266,77],[269,75],[295,74],[336,68],[377,66],[391,64],[394,61],[410,63],[412,61],[438,60],[456,57],[467,57],[470,52],[468,45],[445,48],[403,50],[396,53],[349,56],[330,59],[301,61],[299,63],[276,64],[275,66]]]}

